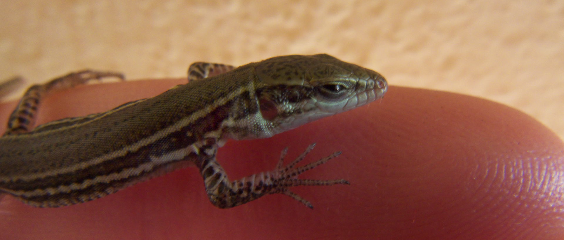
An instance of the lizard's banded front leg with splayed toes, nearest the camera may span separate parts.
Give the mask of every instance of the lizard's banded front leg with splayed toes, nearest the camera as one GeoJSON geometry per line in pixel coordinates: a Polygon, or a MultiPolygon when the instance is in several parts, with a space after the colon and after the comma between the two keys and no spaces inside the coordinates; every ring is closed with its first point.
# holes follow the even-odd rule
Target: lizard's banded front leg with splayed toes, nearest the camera
{"type": "Polygon", "coordinates": [[[313,208],[311,203],[303,199],[296,193],[289,190],[292,186],[321,186],[321,185],[335,185],[335,184],[349,184],[349,181],[344,179],[338,180],[310,180],[298,179],[298,175],[305,171],[311,170],[323,163],[328,162],[330,159],[337,157],[340,152],[335,152],[328,157],[321,158],[318,161],[309,163],[302,167],[297,167],[296,164],[305,158],[315,144],[311,144],[305,152],[297,157],[292,163],[283,166],[285,154],[288,149],[282,151],[280,161],[276,165],[275,170],[268,172],[261,172],[243,179],[230,182],[223,168],[219,166],[213,158],[202,161],[197,166],[204,177],[204,184],[208,197],[213,205],[219,208],[230,208],[242,205],[246,202],[253,201],[263,195],[280,193],[288,195],[298,202],[309,208],[313,208]]]}

